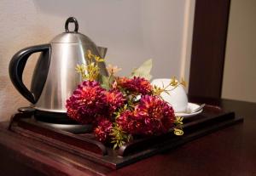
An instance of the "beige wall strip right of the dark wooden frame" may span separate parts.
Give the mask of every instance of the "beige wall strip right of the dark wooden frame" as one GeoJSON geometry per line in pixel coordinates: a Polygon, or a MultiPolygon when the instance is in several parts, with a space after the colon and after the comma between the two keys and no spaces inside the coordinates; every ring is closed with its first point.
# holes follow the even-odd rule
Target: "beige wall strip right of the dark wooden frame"
{"type": "Polygon", "coordinates": [[[222,97],[256,102],[255,0],[231,0],[222,97]]]}

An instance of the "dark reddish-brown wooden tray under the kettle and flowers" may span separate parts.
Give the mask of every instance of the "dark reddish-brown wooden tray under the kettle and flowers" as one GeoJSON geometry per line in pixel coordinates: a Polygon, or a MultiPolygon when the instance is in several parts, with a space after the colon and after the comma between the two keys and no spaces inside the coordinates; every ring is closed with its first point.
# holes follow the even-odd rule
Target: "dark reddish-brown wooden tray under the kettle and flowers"
{"type": "Polygon", "coordinates": [[[235,116],[234,112],[225,112],[218,106],[206,105],[201,114],[183,119],[183,136],[175,136],[170,132],[134,139],[119,150],[102,145],[92,133],[74,134],[45,126],[37,122],[31,112],[15,114],[9,124],[9,130],[116,169],[242,121],[243,119],[235,116]]]}

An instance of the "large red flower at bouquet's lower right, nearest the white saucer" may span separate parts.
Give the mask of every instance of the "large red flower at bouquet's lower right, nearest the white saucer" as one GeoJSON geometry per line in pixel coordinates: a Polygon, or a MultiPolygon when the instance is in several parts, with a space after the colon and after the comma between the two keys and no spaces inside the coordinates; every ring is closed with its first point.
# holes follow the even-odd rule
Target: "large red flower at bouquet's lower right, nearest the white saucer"
{"type": "Polygon", "coordinates": [[[128,133],[158,135],[167,133],[174,120],[172,106],[156,96],[145,95],[133,112],[124,111],[116,121],[128,133]]]}

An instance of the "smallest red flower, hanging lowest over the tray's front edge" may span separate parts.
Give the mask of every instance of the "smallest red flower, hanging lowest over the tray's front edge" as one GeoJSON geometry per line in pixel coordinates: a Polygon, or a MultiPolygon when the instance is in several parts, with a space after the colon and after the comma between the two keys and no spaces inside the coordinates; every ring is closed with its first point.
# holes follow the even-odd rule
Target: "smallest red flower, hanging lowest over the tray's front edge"
{"type": "Polygon", "coordinates": [[[96,139],[105,143],[108,141],[113,125],[107,118],[97,118],[98,126],[94,129],[96,139]]]}

